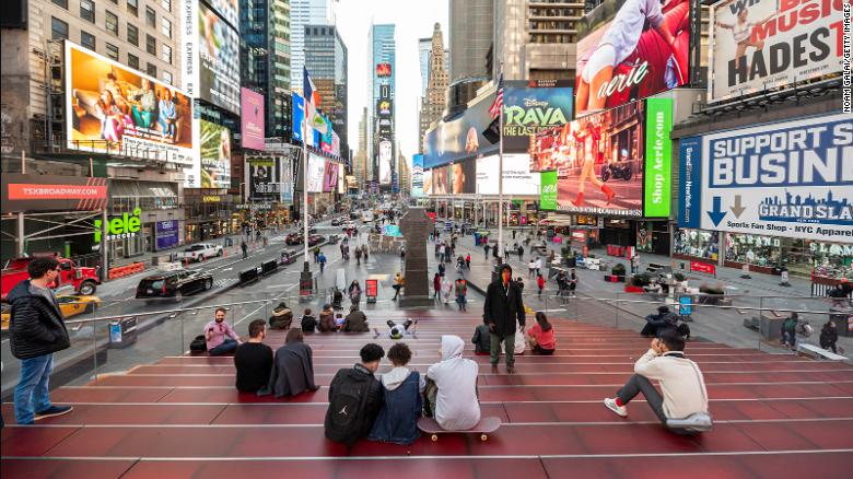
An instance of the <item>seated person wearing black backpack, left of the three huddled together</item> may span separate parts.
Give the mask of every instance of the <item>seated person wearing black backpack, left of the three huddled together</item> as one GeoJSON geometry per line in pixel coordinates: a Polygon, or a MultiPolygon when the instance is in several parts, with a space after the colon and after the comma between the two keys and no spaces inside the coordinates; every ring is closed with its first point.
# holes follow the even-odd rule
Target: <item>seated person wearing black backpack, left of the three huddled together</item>
{"type": "Polygon", "coordinates": [[[331,379],[324,423],[327,439],[348,446],[371,432],[383,404],[382,383],[373,374],[379,369],[385,350],[369,343],[359,355],[360,363],[338,371],[331,379]]]}

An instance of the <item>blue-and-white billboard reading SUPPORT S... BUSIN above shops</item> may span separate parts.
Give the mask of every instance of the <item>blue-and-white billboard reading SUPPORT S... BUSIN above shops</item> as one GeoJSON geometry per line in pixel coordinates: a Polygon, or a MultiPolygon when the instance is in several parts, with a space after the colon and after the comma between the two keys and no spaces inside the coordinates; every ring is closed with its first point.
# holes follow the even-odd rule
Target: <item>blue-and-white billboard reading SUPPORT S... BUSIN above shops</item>
{"type": "Polygon", "coordinates": [[[679,225],[853,243],[853,118],[838,114],[680,142],[679,225]]]}

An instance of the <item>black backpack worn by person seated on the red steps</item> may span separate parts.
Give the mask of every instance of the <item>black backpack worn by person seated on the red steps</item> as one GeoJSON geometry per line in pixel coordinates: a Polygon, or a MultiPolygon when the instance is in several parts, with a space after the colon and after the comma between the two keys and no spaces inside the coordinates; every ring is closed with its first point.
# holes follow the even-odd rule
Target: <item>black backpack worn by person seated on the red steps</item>
{"type": "Polygon", "coordinates": [[[332,381],[335,397],[326,411],[326,437],[348,446],[364,433],[365,405],[373,377],[353,370],[341,371],[332,381]]]}

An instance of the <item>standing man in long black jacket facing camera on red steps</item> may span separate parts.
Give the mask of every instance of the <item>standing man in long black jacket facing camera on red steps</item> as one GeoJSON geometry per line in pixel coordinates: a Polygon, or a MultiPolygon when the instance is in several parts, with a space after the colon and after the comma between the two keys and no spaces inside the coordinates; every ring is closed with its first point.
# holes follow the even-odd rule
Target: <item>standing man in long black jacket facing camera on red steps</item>
{"type": "Polygon", "coordinates": [[[491,352],[492,373],[498,372],[498,362],[501,360],[501,343],[506,354],[506,372],[515,372],[515,322],[524,331],[524,302],[522,290],[513,281],[513,269],[510,265],[503,265],[501,276],[489,284],[486,290],[486,305],[483,319],[489,325],[489,342],[491,352]]]}

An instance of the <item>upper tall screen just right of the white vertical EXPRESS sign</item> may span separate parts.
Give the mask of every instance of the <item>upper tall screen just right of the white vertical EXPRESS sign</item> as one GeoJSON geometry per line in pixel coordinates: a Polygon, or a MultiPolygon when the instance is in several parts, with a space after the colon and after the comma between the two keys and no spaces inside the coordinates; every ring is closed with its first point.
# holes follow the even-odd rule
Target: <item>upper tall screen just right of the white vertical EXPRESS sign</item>
{"type": "MultiPolygon", "coordinates": [[[[227,3],[226,0],[220,2],[227,3]]],[[[199,28],[197,96],[231,113],[239,113],[239,35],[205,3],[196,1],[196,4],[199,28]]]]}

